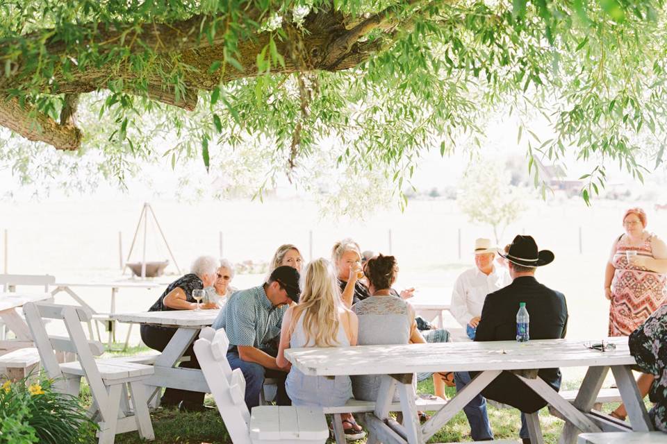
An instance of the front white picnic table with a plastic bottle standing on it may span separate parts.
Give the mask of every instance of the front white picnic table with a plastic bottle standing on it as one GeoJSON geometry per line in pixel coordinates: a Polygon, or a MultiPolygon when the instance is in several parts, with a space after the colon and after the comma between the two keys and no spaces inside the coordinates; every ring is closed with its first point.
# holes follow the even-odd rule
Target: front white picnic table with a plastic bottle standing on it
{"type": "MultiPolygon", "coordinates": [[[[629,354],[627,338],[608,338],[605,341],[614,343],[616,349],[601,352],[587,348],[586,341],[552,339],[527,343],[493,341],[292,348],[286,350],[285,355],[293,366],[306,375],[384,375],[381,378],[375,411],[366,415],[366,425],[372,435],[369,442],[425,443],[500,375],[502,370],[515,370],[522,382],[566,418],[566,427],[559,442],[574,444],[579,431],[600,432],[601,427],[605,431],[627,431],[626,426],[609,420],[608,416],[591,413],[595,398],[610,368],[628,411],[632,429],[639,432],[652,430],[630,370],[636,363],[629,354]],[[519,371],[554,367],[588,367],[573,404],[563,400],[543,379],[535,377],[535,372],[519,371]],[[416,372],[443,370],[481,373],[424,425],[420,425],[415,407],[415,391],[411,384],[412,375],[416,372]],[[396,390],[400,395],[403,417],[407,418],[404,425],[399,425],[388,415],[396,390]]],[[[543,442],[534,429],[531,432],[531,438],[536,438],[533,443],[543,442]]]]}

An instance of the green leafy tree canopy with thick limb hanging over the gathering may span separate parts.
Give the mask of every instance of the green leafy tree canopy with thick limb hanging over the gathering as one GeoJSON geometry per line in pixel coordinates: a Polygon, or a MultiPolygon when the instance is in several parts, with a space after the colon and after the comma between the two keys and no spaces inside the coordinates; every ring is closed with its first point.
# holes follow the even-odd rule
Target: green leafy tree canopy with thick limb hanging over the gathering
{"type": "Polygon", "coordinates": [[[552,126],[508,129],[529,159],[595,160],[588,200],[610,163],[662,162],[666,23],[661,0],[0,0],[0,160],[97,152],[122,180],[247,149],[266,180],[326,157],[400,191],[504,107],[552,126]]]}

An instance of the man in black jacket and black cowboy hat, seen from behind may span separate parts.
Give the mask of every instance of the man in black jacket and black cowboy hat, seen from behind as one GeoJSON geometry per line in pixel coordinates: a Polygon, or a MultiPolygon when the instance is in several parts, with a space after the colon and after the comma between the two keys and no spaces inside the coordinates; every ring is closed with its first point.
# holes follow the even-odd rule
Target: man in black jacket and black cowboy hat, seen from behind
{"type": "MultiPolygon", "coordinates": [[[[484,300],[481,321],[477,326],[475,341],[513,341],[516,340],[516,313],[519,303],[525,302],[530,316],[530,339],[564,338],[568,325],[568,307],[565,296],[540,284],[535,279],[538,266],[550,264],[554,254],[549,250],[538,251],[534,239],[530,236],[514,238],[509,252],[504,255],[509,262],[509,274],[513,279],[507,287],[490,293],[484,300]]],[[[467,382],[474,373],[456,375],[457,389],[467,382]]],[[[561,386],[561,372],[558,368],[543,368],[538,371],[547,384],[558,391],[561,386]]],[[[491,427],[486,416],[486,398],[509,404],[523,413],[533,413],[547,402],[531,388],[523,384],[512,373],[504,371],[491,382],[481,395],[477,395],[463,410],[470,422],[472,438],[476,441],[493,439],[491,427]]],[[[524,443],[530,443],[525,417],[521,415],[520,436],[524,443]]]]}

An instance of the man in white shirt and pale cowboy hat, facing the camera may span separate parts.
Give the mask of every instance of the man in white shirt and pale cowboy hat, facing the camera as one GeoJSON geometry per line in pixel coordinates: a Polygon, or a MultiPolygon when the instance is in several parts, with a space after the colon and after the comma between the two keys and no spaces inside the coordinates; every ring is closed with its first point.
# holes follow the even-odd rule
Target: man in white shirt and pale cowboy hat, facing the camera
{"type": "Polygon", "coordinates": [[[512,282],[507,269],[494,264],[495,253],[497,248],[491,246],[490,239],[475,240],[476,267],[461,273],[454,283],[450,311],[470,339],[475,339],[486,295],[512,282]]]}

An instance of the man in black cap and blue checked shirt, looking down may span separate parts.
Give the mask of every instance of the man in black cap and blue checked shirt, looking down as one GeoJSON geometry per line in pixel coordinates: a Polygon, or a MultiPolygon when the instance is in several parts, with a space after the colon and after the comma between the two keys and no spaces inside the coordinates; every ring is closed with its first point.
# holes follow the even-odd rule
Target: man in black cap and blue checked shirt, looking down
{"type": "Polygon", "coordinates": [[[289,368],[280,368],[275,356],[283,314],[299,302],[300,294],[299,272],[279,266],[265,284],[233,293],[213,322],[213,328],[224,328],[229,338],[229,366],[240,368],[245,377],[248,409],[259,405],[265,377],[277,379],[276,403],[291,404],[285,391],[289,368]]]}

